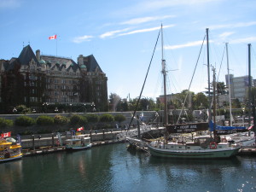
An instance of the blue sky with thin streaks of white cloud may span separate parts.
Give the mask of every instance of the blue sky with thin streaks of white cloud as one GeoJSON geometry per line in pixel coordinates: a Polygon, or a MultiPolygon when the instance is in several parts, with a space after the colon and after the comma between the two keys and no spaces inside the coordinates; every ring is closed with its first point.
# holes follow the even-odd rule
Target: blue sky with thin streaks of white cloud
{"type": "MultiPolygon", "coordinates": [[[[0,59],[18,57],[27,44],[34,53],[40,49],[41,55],[75,62],[79,55],[94,55],[108,77],[108,96],[121,98],[140,95],[151,63],[142,96],[155,99],[163,94],[161,38],[154,51],[161,25],[167,94],[206,91],[206,28],[218,81],[225,81],[227,61],[230,74],[248,74],[248,44],[256,79],[254,0],[0,0],[0,59]]],[[[212,82],[212,69],[210,76],[212,82]]]]}

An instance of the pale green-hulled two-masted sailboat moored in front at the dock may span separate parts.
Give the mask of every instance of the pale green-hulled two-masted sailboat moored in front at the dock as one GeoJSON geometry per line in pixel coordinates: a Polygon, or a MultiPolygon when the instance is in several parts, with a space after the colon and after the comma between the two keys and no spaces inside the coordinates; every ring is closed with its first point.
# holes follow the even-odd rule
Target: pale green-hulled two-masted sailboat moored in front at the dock
{"type": "MultiPolygon", "coordinates": [[[[161,26],[161,36],[163,40],[163,32],[161,26]]],[[[163,41],[162,41],[163,42],[163,41]]],[[[208,90],[210,90],[210,70],[209,70],[209,41],[208,41],[208,29],[207,29],[207,66],[208,66],[208,90]]],[[[163,43],[162,43],[163,52],[163,43]]],[[[236,155],[240,149],[239,145],[231,145],[230,143],[219,143],[217,141],[216,131],[213,129],[213,137],[203,136],[195,137],[192,142],[189,143],[177,143],[169,142],[168,134],[169,132],[179,131],[184,132],[186,130],[196,131],[197,125],[168,125],[167,119],[167,102],[166,102],[166,61],[162,54],[162,73],[164,79],[164,102],[165,102],[165,125],[166,125],[166,137],[165,141],[153,141],[148,143],[149,153],[153,156],[167,157],[167,158],[181,158],[181,159],[221,159],[230,158],[236,155]],[[169,132],[168,132],[169,131],[169,132]]],[[[214,78],[214,76],[213,76],[214,78]]],[[[213,90],[215,89],[213,84],[213,90]]],[[[208,91],[210,93],[210,91],[208,91]]],[[[213,101],[214,101],[213,94],[213,101]]],[[[210,98],[210,96],[209,96],[210,98]]],[[[210,99],[209,99],[210,101],[210,99]]],[[[209,102],[211,103],[211,102],[209,102]]],[[[209,104],[210,108],[211,104],[209,104]]],[[[216,104],[215,104],[216,106],[216,104]]],[[[214,103],[213,103],[214,108],[214,103]]],[[[214,111],[214,109],[213,109],[214,111]]],[[[209,114],[211,114],[209,112],[209,114]]],[[[212,115],[209,115],[211,119],[212,115]]],[[[215,121],[215,116],[213,115],[213,120],[215,121]]],[[[213,125],[213,127],[215,124],[213,125]]]]}

